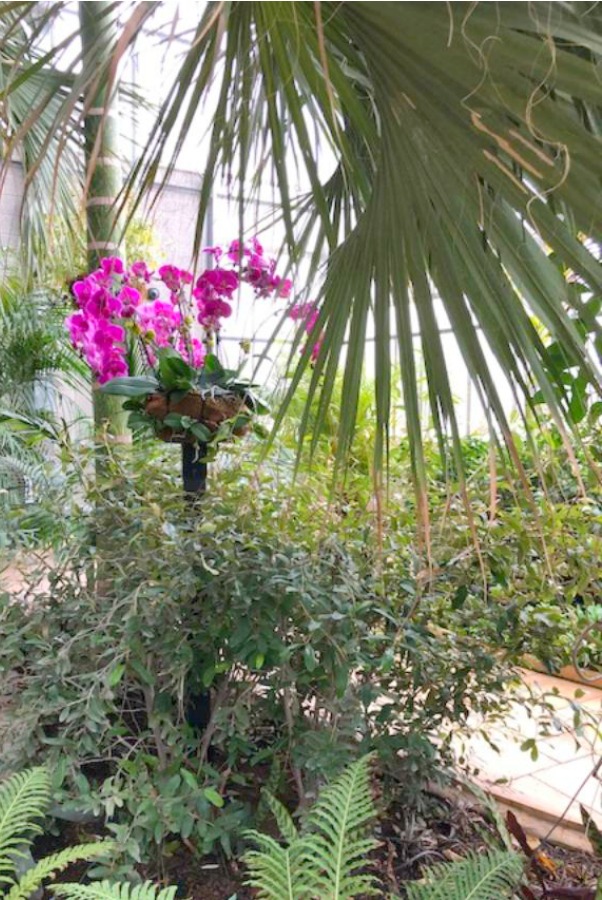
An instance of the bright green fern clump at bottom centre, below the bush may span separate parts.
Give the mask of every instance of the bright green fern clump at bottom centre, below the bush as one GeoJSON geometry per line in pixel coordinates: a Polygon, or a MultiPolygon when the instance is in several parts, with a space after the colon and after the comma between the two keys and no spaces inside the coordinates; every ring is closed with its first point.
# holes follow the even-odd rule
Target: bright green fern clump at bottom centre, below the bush
{"type": "Polygon", "coordinates": [[[377,845],[367,835],[376,814],[368,757],[352,763],[324,788],[299,833],[279,806],[271,798],[286,846],[257,831],[247,835],[257,846],[243,857],[249,869],[247,883],[261,900],[352,900],[378,894],[376,878],[365,871],[377,845]]]}

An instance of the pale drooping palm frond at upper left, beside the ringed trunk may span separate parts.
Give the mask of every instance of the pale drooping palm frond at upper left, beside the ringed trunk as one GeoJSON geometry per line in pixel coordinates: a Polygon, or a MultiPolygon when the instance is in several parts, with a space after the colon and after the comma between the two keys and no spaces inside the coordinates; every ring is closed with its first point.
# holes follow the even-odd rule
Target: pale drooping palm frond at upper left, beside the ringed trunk
{"type": "MultiPolygon", "coordinates": [[[[74,247],[81,245],[86,90],[99,72],[117,67],[139,36],[138,26],[156,6],[137,4],[131,18],[120,23],[120,4],[108,4],[101,14],[98,46],[86,55],[75,23],[58,41],[44,41],[57,23],[64,28],[66,3],[47,3],[40,9],[39,4],[17,2],[0,10],[0,96],[6,122],[0,185],[16,161],[25,186],[21,249],[26,270],[38,276],[54,249],[57,222],[74,247]]],[[[131,86],[110,83],[109,89],[119,90],[126,104],[144,105],[131,86]]]]}

